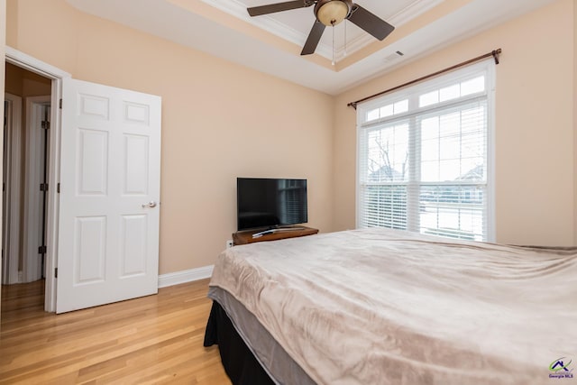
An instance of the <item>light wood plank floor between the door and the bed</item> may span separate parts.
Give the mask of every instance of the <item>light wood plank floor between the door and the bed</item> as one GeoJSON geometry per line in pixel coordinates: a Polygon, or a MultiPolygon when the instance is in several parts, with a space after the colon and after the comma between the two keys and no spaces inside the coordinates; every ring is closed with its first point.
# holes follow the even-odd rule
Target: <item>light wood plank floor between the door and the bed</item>
{"type": "Polygon", "coordinates": [[[2,287],[0,384],[230,384],[202,345],[208,280],[58,316],[43,284],[2,287]]]}

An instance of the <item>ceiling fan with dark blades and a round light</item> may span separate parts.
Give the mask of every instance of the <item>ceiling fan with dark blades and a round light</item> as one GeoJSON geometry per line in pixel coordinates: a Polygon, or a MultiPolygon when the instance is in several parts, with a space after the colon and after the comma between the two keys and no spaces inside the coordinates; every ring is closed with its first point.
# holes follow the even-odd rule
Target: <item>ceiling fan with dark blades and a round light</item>
{"type": "Polygon", "coordinates": [[[260,16],[261,14],[273,14],[291,9],[306,8],[311,5],[315,5],[316,21],[308,34],[303,50],[300,52],[301,55],[314,53],[321,36],[323,36],[323,32],[325,32],[325,27],[334,26],[343,20],[356,24],[379,40],[389,36],[389,33],[395,29],[395,27],[381,20],[375,14],[371,14],[362,8],[361,5],[354,4],[352,0],[296,0],[252,6],[247,8],[247,11],[251,16],[260,16]]]}

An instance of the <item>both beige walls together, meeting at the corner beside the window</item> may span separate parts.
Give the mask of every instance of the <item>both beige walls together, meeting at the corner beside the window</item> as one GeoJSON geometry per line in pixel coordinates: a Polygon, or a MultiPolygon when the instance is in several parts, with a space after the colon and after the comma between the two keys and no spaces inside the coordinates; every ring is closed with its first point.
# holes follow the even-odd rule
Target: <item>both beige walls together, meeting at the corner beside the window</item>
{"type": "Polygon", "coordinates": [[[6,42],[15,49],[74,78],[162,96],[161,274],[215,261],[235,229],[237,176],[307,178],[309,224],[324,232],[353,228],[355,112],[346,104],[495,48],[503,49],[497,66],[497,240],[577,239],[572,0],[337,97],[78,13],[64,0],[7,0],[7,14],[6,42]],[[50,44],[37,36],[45,20],[54,21],[50,44]]]}

